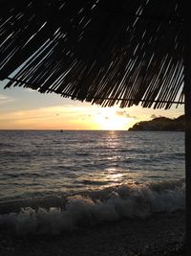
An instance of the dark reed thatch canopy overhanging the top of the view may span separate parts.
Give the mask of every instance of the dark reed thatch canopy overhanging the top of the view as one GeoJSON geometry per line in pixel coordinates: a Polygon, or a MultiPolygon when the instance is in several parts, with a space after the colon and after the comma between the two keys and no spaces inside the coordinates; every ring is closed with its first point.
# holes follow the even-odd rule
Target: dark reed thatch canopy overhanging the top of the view
{"type": "Polygon", "coordinates": [[[182,2],[1,0],[0,79],[104,106],[181,103],[182,2]]]}

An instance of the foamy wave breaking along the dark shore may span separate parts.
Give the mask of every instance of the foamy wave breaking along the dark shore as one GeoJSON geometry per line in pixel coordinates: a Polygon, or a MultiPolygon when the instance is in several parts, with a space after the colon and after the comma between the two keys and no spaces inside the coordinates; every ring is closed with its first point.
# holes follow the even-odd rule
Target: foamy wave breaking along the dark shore
{"type": "Polygon", "coordinates": [[[18,213],[2,214],[0,227],[18,235],[58,234],[84,224],[122,218],[145,219],[159,212],[183,210],[185,184],[182,180],[126,184],[66,199],[66,204],[57,208],[26,207],[18,213]]]}

